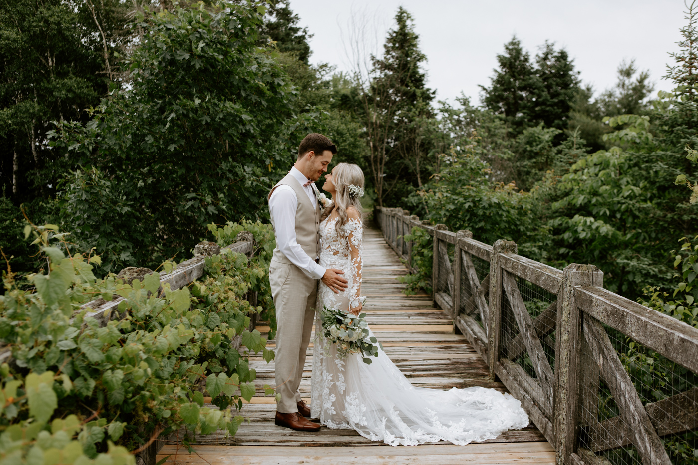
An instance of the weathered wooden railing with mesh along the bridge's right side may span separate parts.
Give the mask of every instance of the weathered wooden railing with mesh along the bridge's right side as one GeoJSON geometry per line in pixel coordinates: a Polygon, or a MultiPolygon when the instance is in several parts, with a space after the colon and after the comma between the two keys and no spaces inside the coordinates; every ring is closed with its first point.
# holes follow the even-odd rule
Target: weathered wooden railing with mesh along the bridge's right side
{"type": "Polygon", "coordinates": [[[403,236],[418,227],[433,237],[434,303],[521,401],[558,464],[696,463],[697,329],[604,289],[593,265],[558,270],[519,256],[514,242],[490,246],[402,209],[378,207],[375,219],[410,268],[403,236]]]}

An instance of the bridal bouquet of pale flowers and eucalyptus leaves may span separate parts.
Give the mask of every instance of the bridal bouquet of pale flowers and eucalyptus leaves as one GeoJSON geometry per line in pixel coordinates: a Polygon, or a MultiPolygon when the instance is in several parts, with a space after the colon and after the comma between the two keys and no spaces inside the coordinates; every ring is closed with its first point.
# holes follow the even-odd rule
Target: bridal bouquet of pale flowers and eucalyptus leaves
{"type": "Polygon", "coordinates": [[[322,335],[336,345],[337,355],[344,358],[352,353],[365,355],[364,363],[371,364],[369,357],[378,357],[378,339],[369,337],[369,323],[366,323],[366,313],[359,316],[346,313],[339,309],[328,309],[323,306],[320,311],[322,318],[322,335]]]}

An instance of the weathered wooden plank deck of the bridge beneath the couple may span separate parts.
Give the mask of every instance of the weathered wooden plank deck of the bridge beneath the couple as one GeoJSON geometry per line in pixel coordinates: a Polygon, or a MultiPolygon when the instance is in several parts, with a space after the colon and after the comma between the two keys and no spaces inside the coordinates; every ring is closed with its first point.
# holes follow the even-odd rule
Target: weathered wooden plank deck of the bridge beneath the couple
{"type": "MultiPolygon", "coordinates": [[[[414,385],[447,390],[484,386],[506,392],[502,383],[487,379],[487,364],[466,339],[453,334],[453,323],[446,314],[431,306],[428,295],[406,297],[404,285],[396,276],[407,273],[381,232],[367,229],[364,237],[364,283],[362,293],[369,297],[364,311],[371,329],[383,343],[385,352],[414,385]]],[[[258,326],[264,334],[268,327],[258,326]]],[[[267,347],[273,348],[274,341],[267,347]]],[[[312,344],[301,395],[310,401],[312,344]]],[[[250,359],[257,371],[258,386],[274,385],[274,362],[261,357],[250,359]]],[[[484,443],[456,446],[440,442],[393,447],[360,436],[354,430],[322,427],[303,433],[274,425],[273,397],[253,397],[241,414],[249,423],[240,426],[235,437],[223,431],[198,435],[195,452],[183,445],[167,444],[157,460],[163,465],[232,464],[554,464],[555,450],[535,426],[506,431],[484,443]],[[312,447],[308,447],[312,446],[312,447]],[[370,447],[369,447],[370,446],[370,447]]],[[[209,399],[207,399],[209,400],[209,399]]],[[[212,406],[211,406],[212,407],[212,406]]]]}

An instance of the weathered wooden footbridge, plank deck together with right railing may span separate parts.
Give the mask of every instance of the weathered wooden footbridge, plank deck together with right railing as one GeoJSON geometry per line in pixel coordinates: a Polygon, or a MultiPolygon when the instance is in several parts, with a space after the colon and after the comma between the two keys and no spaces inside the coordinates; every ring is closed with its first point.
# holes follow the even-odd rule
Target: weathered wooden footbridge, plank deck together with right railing
{"type": "MultiPolygon", "coordinates": [[[[366,231],[364,308],[387,354],[415,385],[508,391],[532,424],[485,443],[392,447],[353,430],[276,427],[274,400],[258,392],[242,410],[250,422],[235,437],[195,436],[193,453],[170,437],[158,460],[698,464],[696,328],[604,289],[593,265],[558,270],[519,256],[514,242],[484,244],[469,231],[425,225],[402,209],[378,208],[375,220],[383,234],[366,231]],[[404,238],[413,228],[426,232],[426,246],[404,238]],[[431,272],[424,260],[425,270],[416,269],[419,254],[431,256],[431,272]],[[431,273],[425,277],[433,296],[404,295],[396,277],[408,272],[431,273]]],[[[308,355],[305,396],[312,349],[308,355]]],[[[251,367],[259,381],[273,384],[273,363],[254,360],[251,367]]]]}

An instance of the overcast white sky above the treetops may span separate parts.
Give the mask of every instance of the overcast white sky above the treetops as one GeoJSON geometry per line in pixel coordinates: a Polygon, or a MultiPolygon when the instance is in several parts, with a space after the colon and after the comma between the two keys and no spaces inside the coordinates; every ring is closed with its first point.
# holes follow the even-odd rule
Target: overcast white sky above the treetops
{"type": "Polygon", "coordinates": [[[532,57],[545,40],[565,47],[581,79],[597,92],[616,82],[621,60],[633,58],[650,71],[655,95],[668,91],[671,85],[660,77],[685,24],[683,0],[291,0],[290,6],[314,34],[311,62],[338,71],[348,68],[339,29],[347,28],[352,10],[378,18],[382,50],[385,31],[403,6],[415,18],[436,97],[451,100],[462,91],[473,103],[479,101],[477,84],[489,85],[496,55],[513,34],[532,57]]]}

